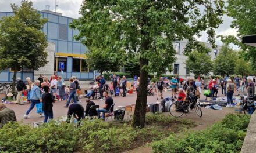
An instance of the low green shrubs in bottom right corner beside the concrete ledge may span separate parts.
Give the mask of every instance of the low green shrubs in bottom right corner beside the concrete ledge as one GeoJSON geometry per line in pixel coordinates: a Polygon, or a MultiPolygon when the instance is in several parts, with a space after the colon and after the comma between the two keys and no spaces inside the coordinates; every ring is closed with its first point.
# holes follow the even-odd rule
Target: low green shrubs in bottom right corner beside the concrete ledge
{"type": "Polygon", "coordinates": [[[240,152],[249,122],[246,115],[228,114],[211,128],[171,135],[152,147],[154,152],[240,152]]]}

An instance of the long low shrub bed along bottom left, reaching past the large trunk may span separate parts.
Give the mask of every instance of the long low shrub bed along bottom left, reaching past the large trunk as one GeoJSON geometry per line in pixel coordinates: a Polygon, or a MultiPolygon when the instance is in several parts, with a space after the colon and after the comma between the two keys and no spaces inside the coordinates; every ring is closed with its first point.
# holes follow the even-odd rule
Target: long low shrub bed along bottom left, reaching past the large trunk
{"type": "Polygon", "coordinates": [[[77,128],[54,121],[38,128],[8,123],[0,129],[0,152],[121,152],[194,125],[163,114],[148,114],[144,129],[130,123],[82,121],[77,128]]]}

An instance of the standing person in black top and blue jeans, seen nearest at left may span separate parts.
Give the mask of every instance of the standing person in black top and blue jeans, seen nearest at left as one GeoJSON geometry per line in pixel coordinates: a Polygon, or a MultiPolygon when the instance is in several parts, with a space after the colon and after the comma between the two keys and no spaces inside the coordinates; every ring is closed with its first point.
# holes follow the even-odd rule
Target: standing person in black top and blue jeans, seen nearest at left
{"type": "Polygon", "coordinates": [[[50,92],[50,88],[48,86],[44,86],[44,94],[42,94],[42,110],[44,111],[44,122],[47,123],[48,118],[54,118],[54,112],[52,111],[52,103],[54,99],[52,99],[52,94],[50,92]]]}

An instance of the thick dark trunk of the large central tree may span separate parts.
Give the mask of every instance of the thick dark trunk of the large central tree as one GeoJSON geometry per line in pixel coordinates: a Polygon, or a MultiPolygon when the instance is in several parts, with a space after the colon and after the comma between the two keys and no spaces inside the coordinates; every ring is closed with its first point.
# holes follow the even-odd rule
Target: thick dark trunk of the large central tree
{"type": "Polygon", "coordinates": [[[139,126],[144,128],[145,114],[147,105],[147,86],[148,86],[148,72],[143,70],[144,65],[148,65],[148,60],[140,58],[140,85],[138,86],[138,93],[133,115],[132,126],[139,126]]]}

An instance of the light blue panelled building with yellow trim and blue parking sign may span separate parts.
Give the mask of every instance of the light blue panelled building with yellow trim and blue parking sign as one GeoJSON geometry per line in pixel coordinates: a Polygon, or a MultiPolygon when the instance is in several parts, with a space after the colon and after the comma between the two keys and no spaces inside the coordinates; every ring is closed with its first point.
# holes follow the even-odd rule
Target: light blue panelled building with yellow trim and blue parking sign
{"type": "MultiPolygon", "coordinates": [[[[49,57],[47,57],[49,63],[44,68],[40,68],[39,71],[18,72],[17,76],[24,80],[26,77],[36,78],[38,74],[48,76],[49,73],[54,74],[56,71],[64,79],[69,79],[72,76],[76,76],[80,80],[93,79],[94,71],[89,70],[86,61],[83,60],[86,57],[84,53],[88,49],[80,41],[73,39],[74,35],[79,34],[79,31],[69,28],[69,23],[73,19],[49,10],[38,11],[38,13],[41,14],[41,17],[48,19],[42,31],[47,35],[47,42],[50,46],[49,49],[46,49],[47,52],[49,50],[49,57]],[[55,46],[54,53],[51,52],[52,43],[55,46]]],[[[13,12],[0,12],[0,19],[4,16],[13,16],[13,12]]],[[[0,73],[0,82],[11,82],[12,76],[11,70],[3,70],[0,73]]]]}

